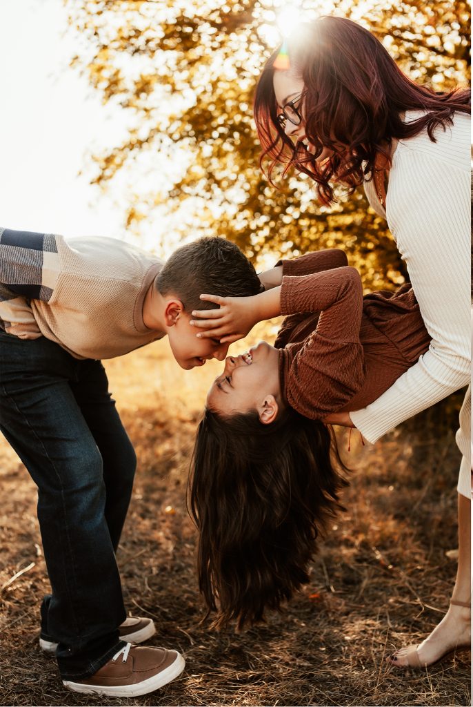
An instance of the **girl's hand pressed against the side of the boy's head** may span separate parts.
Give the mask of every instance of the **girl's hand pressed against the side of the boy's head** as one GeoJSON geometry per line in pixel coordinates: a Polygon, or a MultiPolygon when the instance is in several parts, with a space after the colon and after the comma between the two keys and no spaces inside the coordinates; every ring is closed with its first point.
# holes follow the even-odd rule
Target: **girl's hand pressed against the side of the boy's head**
{"type": "Polygon", "coordinates": [[[232,344],[244,339],[258,322],[253,297],[200,295],[200,299],[220,305],[220,309],[192,312],[192,317],[198,319],[193,318],[190,323],[201,329],[197,334],[200,339],[220,339],[221,344],[232,344]]]}

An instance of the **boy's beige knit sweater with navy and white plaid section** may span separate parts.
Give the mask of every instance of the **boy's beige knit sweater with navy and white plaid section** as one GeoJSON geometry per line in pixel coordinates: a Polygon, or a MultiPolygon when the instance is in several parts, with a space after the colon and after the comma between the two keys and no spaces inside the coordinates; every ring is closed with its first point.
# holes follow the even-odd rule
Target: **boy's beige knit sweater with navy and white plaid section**
{"type": "Polygon", "coordinates": [[[114,238],[0,228],[0,327],[75,358],[114,358],[161,339],[143,302],[162,261],[114,238]]]}

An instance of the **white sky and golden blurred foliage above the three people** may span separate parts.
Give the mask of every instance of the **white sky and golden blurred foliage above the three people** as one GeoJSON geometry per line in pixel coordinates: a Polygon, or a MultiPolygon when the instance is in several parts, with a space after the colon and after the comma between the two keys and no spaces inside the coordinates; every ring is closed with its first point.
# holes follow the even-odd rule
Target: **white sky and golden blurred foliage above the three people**
{"type": "Polygon", "coordinates": [[[372,30],[436,90],[469,81],[469,6],[419,0],[18,0],[0,6],[3,218],[101,233],[169,255],[219,234],[256,263],[343,245],[366,288],[405,271],[359,191],[321,208],[309,180],[273,189],[251,115],[282,30],[333,13],[372,30]]]}

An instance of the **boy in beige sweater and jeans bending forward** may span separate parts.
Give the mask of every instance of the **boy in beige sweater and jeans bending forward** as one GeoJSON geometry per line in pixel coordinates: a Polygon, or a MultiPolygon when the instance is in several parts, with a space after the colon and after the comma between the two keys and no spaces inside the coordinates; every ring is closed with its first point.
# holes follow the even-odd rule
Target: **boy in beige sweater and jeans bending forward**
{"type": "Polygon", "coordinates": [[[115,551],[136,456],[101,358],[169,337],[181,368],[223,360],[189,313],[200,292],[260,290],[236,245],[201,238],[164,264],[111,238],[0,228],[0,430],[38,487],[38,520],[52,595],[40,645],[79,692],[146,694],[184,669],[175,650],[143,648],[150,619],[126,619],[115,551]]]}

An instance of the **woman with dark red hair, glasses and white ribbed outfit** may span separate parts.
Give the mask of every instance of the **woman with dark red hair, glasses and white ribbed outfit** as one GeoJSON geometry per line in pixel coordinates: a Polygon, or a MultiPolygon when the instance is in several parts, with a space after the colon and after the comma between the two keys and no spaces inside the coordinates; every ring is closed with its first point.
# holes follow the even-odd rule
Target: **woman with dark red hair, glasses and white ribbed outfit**
{"type": "MultiPolygon", "coordinates": [[[[376,37],[344,18],[302,25],[285,49],[289,65],[279,51],[270,57],[254,104],[270,176],[276,163],[294,165],[316,182],[323,204],[333,201],[335,182],[364,184],[407,263],[431,336],[429,351],[384,395],[329,418],[374,443],[469,383],[469,91],[417,85],[376,37]]],[[[390,657],[398,667],[431,665],[469,636],[470,409],[468,390],[457,433],[463,457],[453,600],[425,641],[390,657]]]]}

